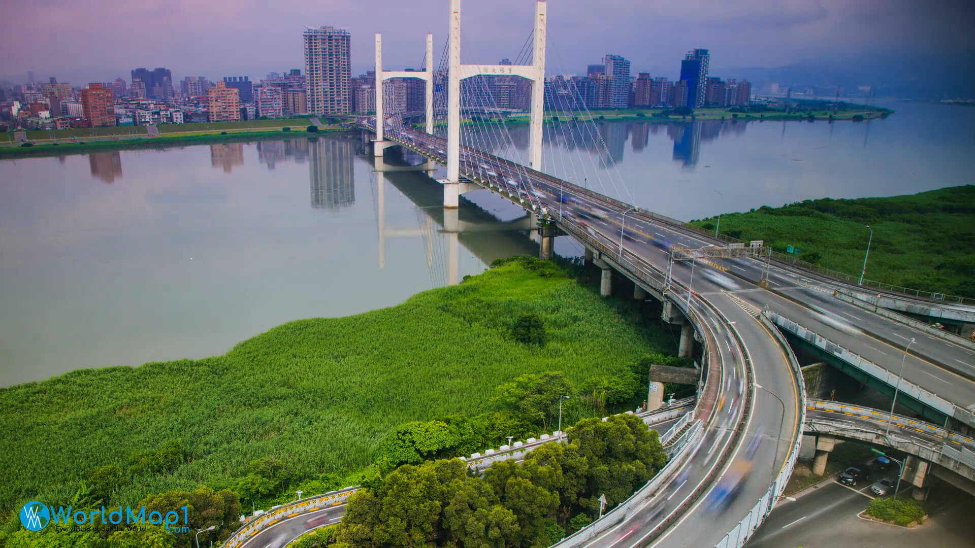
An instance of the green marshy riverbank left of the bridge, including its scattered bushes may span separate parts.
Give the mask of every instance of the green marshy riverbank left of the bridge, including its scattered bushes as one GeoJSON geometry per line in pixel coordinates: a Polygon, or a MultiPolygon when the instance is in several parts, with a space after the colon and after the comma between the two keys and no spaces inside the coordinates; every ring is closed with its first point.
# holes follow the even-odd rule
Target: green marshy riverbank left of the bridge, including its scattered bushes
{"type": "Polygon", "coordinates": [[[554,263],[521,257],[398,306],[292,322],[223,356],[0,389],[0,466],[17,470],[0,488],[0,545],[28,500],[135,506],[206,485],[250,511],[295,489],[369,481],[360,471],[373,460],[385,471],[415,461],[409,450],[453,456],[551,431],[553,390],[590,391],[564,405],[565,423],[628,395],[636,407],[646,362],[667,359],[644,355],[672,344],[606,302],[554,263]],[[516,336],[526,315],[543,339],[516,336]],[[455,437],[390,445],[409,421],[437,420],[455,437]],[[379,458],[390,447],[407,457],[379,458]]]}

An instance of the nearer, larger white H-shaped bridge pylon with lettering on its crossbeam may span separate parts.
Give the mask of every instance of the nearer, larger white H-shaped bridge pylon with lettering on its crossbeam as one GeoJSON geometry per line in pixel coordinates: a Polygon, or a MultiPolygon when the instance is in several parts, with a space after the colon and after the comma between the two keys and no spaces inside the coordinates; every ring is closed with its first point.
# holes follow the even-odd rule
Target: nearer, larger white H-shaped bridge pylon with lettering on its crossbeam
{"type": "Polygon", "coordinates": [[[447,179],[444,183],[444,206],[455,208],[459,195],[467,190],[460,182],[460,81],[478,75],[521,76],[531,81],[531,125],[529,163],[535,170],[542,167],[542,116],[545,98],[545,1],[535,2],[534,52],[531,64],[461,64],[460,0],[450,0],[450,35],[448,53],[447,179]]]}

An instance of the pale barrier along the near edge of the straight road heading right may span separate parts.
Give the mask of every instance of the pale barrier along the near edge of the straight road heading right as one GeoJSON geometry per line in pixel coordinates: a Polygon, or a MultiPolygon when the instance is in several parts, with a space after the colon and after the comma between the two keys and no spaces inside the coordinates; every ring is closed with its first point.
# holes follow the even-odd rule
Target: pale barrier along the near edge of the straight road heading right
{"type": "MultiPolygon", "coordinates": [[[[866,372],[867,374],[877,378],[881,382],[889,384],[890,386],[897,384],[898,375],[879,367],[874,362],[866,360],[860,355],[839,346],[839,344],[827,339],[826,337],[800,326],[796,322],[782,316],[781,314],[774,312],[768,313],[764,311],[762,313],[767,314],[775,325],[779,326],[783,330],[799,336],[803,340],[833,356],[836,356],[840,360],[859,369],[860,371],[866,372]]],[[[906,380],[904,378],[900,379],[900,392],[914,398],[921,404],[924,404],[933,410],[940,411],[948,416],[952,416],[958,421],[969,426],[975,426],[975,413],[968,411],[965,408],[956,406],[952,402],[938,396],[934,392],[921,388],[910,380],[906,380]]]]}

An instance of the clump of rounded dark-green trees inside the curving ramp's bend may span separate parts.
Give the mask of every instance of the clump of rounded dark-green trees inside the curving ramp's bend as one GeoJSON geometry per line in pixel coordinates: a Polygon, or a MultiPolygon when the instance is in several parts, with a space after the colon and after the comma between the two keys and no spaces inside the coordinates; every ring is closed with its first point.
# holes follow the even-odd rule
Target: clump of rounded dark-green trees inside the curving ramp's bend
{"type": "Polygon", "coordinates": [[[667,460],[655,431],[634,415],[580,420],[567,445],[497,462],[484,479],[457,459],[407,464],[352,496],[336,548],[549,546],[614,507],[667,460]]]}

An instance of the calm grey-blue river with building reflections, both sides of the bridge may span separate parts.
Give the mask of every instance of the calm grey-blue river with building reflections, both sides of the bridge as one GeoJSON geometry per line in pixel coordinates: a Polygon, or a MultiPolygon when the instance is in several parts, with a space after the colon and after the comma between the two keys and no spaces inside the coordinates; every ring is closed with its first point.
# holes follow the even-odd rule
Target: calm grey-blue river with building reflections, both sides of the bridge
{"type": "MultiPolygon", "coordinates": [[[[869,123],[563,125],[545,169],[683,219],[971,180],[975,108],[882,105],[897,112],[869,123]]],[[[465,139],[526,159],[526,128],[465,139]]],[[[445,231],[439,192],[422,173],[373,173],[355,136],[0,161],[0,386],[221,354],[537,253],[505,224],[523,213],[487,191],[465,195],[468,231],[445,231]]],[[[581,248],[559,238],[556,252],[581,248]]]]}

